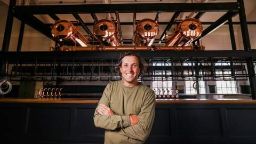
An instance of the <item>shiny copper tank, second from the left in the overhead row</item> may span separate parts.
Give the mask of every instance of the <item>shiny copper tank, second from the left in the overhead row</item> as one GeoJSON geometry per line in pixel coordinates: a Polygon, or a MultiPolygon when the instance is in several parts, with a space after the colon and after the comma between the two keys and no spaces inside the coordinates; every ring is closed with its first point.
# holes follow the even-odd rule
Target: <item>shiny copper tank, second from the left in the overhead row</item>
{"type": "Polygon", "coordinates": [[[93,34],[99,38],[102,46],[119,46],[117,28],[115,23],[108,19],[102,19],[94,23],[93,34]]]}

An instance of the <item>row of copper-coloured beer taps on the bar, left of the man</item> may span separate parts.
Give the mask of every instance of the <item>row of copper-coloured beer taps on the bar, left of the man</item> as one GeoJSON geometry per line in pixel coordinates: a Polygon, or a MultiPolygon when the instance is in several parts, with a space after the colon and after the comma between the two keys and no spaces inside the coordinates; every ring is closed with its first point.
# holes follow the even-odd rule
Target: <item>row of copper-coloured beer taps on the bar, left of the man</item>
{"type": "Polygon", "coordinates": [[[59,99],[60,100],[60,97],[61,97],[61,91],[62,91],[62,88],[59,89],[59,88],[42,88],[39,90],[38,92],[38,99],[43,99],[43,100],[57,100],[59,99]]]}

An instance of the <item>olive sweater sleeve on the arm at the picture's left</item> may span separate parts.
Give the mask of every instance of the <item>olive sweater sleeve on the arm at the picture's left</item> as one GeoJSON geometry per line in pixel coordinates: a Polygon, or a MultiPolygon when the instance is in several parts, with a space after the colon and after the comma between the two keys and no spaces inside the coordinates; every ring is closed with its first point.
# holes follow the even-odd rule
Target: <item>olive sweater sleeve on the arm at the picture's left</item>
{"type": "MultiPolygon", "coordinates": [[[[98,103],[98,106],[100,103],[102,103],[103,105],[110,107],[110,99],[109,98],[110,98],[110,88],[109,88],[109,84],[108,84],[102,94],[102,97],[98,103]]],[[[129,116],[101,115],[97,111],[98,106],[96,107],[96,109],[94,111],[94,116],[93,116],[94,125],[96,127],[101,127],[106,130],[116,130],[116,129],[124,128],[124,127],[131,125],[129,116]]]]}

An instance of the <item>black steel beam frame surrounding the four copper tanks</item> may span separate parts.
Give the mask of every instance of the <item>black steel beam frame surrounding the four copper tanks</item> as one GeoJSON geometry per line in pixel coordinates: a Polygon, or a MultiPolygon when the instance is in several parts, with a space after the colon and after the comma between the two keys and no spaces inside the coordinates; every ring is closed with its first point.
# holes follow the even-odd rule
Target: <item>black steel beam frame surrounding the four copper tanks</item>
{"type": "MultiPolygon", "coordinates": [[[[140,55],[145,59],[152,58],[177,58],[177,59],[230,59],[230,63],[233,63],[236,60],[245,60],[247,63],[248,77],[251,85],[251,92],[253,99],[256,99],[256,77],[254,71],[255,63],[255,51],[251,50],[249,33],[247,29],[247,25],[253,24],[256,22],[247,22],[244,11],[244,3],[243,0],[237,0],[236,3],[159,3],[159,4],[97,4],[97,5],[44,5],[44,6],[15,6],[15,1],[10,1],[9,11],[7,15],[7,22],[4,34],[4,41],[2,52],[0,52],[0,57],[6,59],[7,61],[1,61],[2,70],[5,69],[4,66],[6,63],[10,63],[12,61],[23,60],[28,62],[32,60],[35,63],[35,58],[40,59],[41,61],[49,61],[49,59],[53,58],[67,58],[67,59],[97,59],[97,58],[109,58],[109,59],[117,59],[119,57],[119,52],[19,52],[21,51],[22,44],[22,29],[23,24],[21,25],[21,31],[19,36],[19,44],[17,47],[18,52],[7,52],[10,44],[11,38],[11,30],[12,30],[12,22],[13,17],[18,18],[22,21],[22,23],[26,23],[26,25],[31,26],[37,31],[41,32],[45,36],[52,39],[51,28],[49,25],[46,25],[42,21],[38,20],[34,17],[34,14],[49,14],[54,20],[58,20],[56,14],[75,14],[79,13],[90,13],[94,21],[97,21],[95,13],[139,13],[139,12],[174,12],[174,17],[170,22],[159,22],[160,25],[167,25],[164,33],[161,38],[158,39],[158,43],[163,42],[163,36],[166,31],[168,31],[174,23],[174,19],[178,17],[180,12],[198,12],[195,16],[199,18],[205,12],[227,12],[220,19],[215,22],[202,22],[204,24],[210,24],[211,26],[203,31],[203,36],[211,33],[211,31],[215,28],[223,24],[229,24],[230,35],[234,33],[232,30],[231,24],[233,25],[241,25],[243,44],[245,51],[236,51],[235,46],[233,45],[233,51],[196,51],[196,52],[163,52],[163,51],[155,51],[155,52],[139,52],[140,55]],[[63,11],[65,10],[65,11],[63,11]],[[239,14],[240,22],[231,22],[231,18],[234,15],[239,14]],[[176,17],[177,16],[177,17],[176,17]],[[227,23],[226,20],[229,20],[227,23]],[[42,59],[41,59],[42,58],[42,59]],[[47,60],[48,59],[48,60],[47,60]],[[26,61],[28,60],[28,61],[26,61]]],[[[79,19],[79,18],[77,18],[79,19]]],[[[82,21],[82,20],[79,20],[82,21]]],[[[134,22],[120,22],[121,25],[133,25],[134,22]]],[[[87,25],[92,25],[92,23],[84,23],[81,22],[81,26],[86,29],[87,25]]],[[[89,31],[87,33],[90,34],[89,31]]],[[[201,37],[201,38],[202,38],[201,37]]],[[[199,39],[197,39],[198,42],[199,39]]],[[[130,39],[129,39],[130,41],[130,39]]],[[[125,39],[124,39],[125,42],[125,39]]],[[[234,43],[234,37],[231,37],[231,42],[234,43]]],[[[65,59],[66,60],[66,59],[65,59]]],[[[173,60],[173,59],[172,59],[173,60]]],[[[18,65],[17,65],[18,66],[18,65]]],[[[36,66],[36,65],[35,65],[36,66]]],[[[55,66],[55,65],[54,65],[55,66]]],[[[231,69],[234,70],[234,67],[231,65],[231,69]]],[[[214,75],[214,73],[211,73],[214,75]]],[[[3,76],[3,75],[2,75],[3,76]]],[[[233,73],[234,76],[234,73],[233,73]]]]}

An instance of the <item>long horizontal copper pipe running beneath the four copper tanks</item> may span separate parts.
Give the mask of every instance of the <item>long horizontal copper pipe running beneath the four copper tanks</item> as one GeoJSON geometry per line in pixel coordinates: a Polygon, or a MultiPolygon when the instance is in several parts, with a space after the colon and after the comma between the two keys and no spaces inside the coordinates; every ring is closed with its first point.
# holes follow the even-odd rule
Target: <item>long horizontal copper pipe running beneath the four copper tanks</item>
{"type": "Polygon", "coordinates": [[[59,51],[203,51],[204,46],[69,46],[59,47],[59,51]]]}

